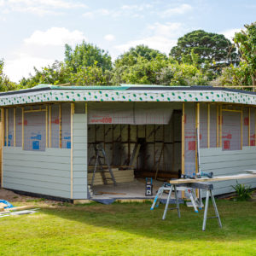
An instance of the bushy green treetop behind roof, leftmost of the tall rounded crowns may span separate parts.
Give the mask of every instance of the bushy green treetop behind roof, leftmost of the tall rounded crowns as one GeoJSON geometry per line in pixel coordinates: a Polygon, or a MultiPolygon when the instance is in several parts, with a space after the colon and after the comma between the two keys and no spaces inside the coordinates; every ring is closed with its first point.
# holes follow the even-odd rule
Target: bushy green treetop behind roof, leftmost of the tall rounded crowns
{"type": "Polygon", "coordinates": [[[111,57],[104,49],[84,41],[77,44],[74,49],[68,44],[65,45],[65,63],[73,73],[76,73],[79,67],[93,67],[95,62],[103,72],[112,69],[111,57]]]}

